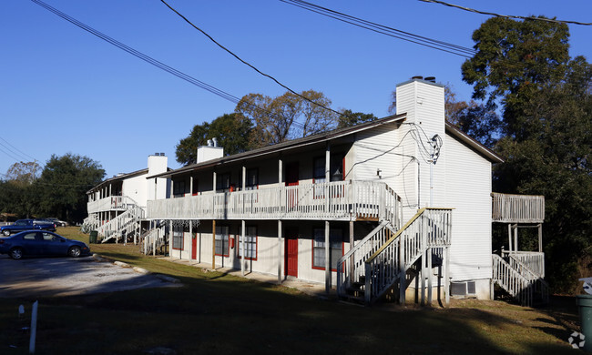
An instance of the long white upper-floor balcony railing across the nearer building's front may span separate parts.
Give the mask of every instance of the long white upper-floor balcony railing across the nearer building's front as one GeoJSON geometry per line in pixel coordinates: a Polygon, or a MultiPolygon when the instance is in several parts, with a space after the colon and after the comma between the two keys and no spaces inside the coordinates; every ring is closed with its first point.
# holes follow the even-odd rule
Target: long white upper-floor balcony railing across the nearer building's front
{"type": "Polygon", "coordinates": [[[401,199],[381,182],[336,181],[148,201],[148,219],[387,219],[400,225],[401,199]]]}

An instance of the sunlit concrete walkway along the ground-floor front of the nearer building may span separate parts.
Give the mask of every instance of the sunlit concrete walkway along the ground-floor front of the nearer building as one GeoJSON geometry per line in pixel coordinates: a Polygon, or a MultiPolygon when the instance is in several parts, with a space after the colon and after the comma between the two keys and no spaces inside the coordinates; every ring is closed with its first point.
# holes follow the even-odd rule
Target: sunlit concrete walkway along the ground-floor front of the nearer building
{"type": "MultiPolygon", "coordinates": [[[[179,264],[189,265],[189,266],[192,266],[195,268],[207,269],[207,270],[211,269],[210,263],[207,263],[207,264],[198,263],[195,261],[189,261],[186,259],[175,259],[175,258],[171,258],[171,257],[166,257],[163,259],[171,261],[171,262],[179,263],[179,264]]],[[[216,268],[216,271],[222,272],[224,274],[230,274],[232,276],[236,276],[239,278],[242,277],[241,271],[236,270],[236,269],[218,267],[218,268],[216,268]]],[[[278,276],[277,275],[263,274],[263,273],[259,273],[259,272],[245,270],[244,278],[254,279],[254,280],[257,280],[260,282],[267,282],[267,283],[271,283],[274,285],[278,284],[278,276]]],[[[300,279],[282,279],[281,286],[289,287],[292,289],[299,289],[301,292],[306,293],[307,295],[318,297],[321,299],[334,299],[336,297],[334,287],[330,290],[329,294],[327,294],[327,292],[325,290],[324,283],[302,281],[300,279]]]]}

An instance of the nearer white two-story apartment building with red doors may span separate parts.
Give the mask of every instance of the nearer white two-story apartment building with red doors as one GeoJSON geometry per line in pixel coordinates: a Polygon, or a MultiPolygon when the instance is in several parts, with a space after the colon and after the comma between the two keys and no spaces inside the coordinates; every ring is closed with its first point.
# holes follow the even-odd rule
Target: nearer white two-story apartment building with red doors
{"type": "Polygon", "coordinates": [[[397,115],[355,127],[228,157],[199,147],[196,164],[155,176],[172,187],[147,218],[169,224],[173,258],[357,287],[367,301],[393,288],[404,299],[413,282],[431,294],[434,277],[488,299],[503,159],[444,121],[444,86],[412,79],[396,94],[397,115]]]}

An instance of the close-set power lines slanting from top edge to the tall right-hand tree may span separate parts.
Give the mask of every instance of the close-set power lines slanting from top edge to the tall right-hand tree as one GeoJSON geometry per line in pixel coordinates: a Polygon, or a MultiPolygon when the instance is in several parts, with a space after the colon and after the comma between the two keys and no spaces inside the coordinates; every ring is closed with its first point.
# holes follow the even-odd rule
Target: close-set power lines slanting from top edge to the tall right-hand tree
{"type": "Polygon", "coordinates": [[[475,49],[468,48],[465,46],[458,46],[448,42],[439,41],[423,35],[415,35],[410,32],[402,31],[386,25],[376,24],[371,21],[364,20],[359,17],[352,15],[346,15],[341,12],[322,7],[320,5],[314,5],[312,3],[302,0],[280,0],[282,3],[294,5],[302,9],[311,11],[313,13],[331,17],[335,20],[345,22],[350,25],[355,25],[382,35],[389,35],[394,38],[401,39],[403,41],[411,42],[420,46],[427,46],[436,50],[447,52],[455,56],[464,56],[470,58],[475,55],[475,49]]]}

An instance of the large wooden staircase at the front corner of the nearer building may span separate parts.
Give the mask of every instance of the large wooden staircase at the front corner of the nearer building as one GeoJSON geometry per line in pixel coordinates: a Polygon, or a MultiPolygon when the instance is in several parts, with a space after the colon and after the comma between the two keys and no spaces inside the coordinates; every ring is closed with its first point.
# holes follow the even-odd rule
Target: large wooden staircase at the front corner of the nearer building
{"type": "MultiPolygon", "coordinates": [[[[422,266],[425,265],[428,270],[432,269],[434,249],[447,249],[450,246],[451,226],[451,208],[422,208],[399,230],[393,227],[391,221],[381,221],[373,231],[339,259],[338,297],[371,304],[383,297],[387,291],[398,289],[399,301],[403,303],[409,283],[408,271],[419,259],[422,260],[422,266]]],[[[445,273],[447,269],[444,269],[445,273]]],[[[431,272],[427,272],[427,275],[428,299],[431,299],[431,272]]],[[[447,279],[445,275],[446,284],[447,279]]],[[[421,278],[422,299],[424,280],[425,278],[421,278]]]]}

